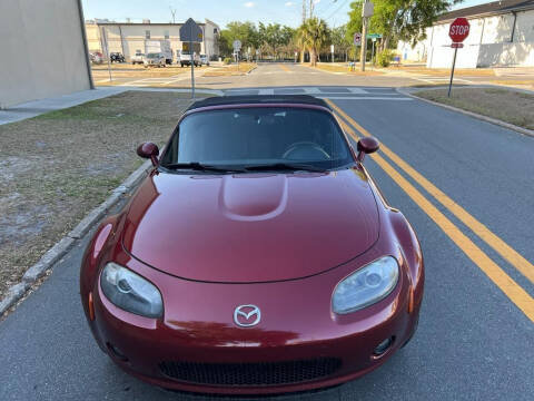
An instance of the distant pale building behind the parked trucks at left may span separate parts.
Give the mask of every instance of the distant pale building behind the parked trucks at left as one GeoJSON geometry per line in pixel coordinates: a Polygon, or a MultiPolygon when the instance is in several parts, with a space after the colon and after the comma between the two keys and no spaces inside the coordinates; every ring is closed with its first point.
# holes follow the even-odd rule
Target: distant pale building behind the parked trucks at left
{"type": "MultiPolygon", "coordinates": [[[[211,59],[219,56],[218,38],[220,28],[217,23],[206,19],[198,22],[204,32],[200,43],[200,53],[211,59]]],[[[120,52],[129,61],[136,51],[145,52],[145,43],[154,40],[168,40],[172,50],[174,60],[182,50],[180,40],[181,23],[115,22],[108,20],[86,21],[87,41],[89,51],[100,51],[105,57],[111,52],[120,52]]]]}

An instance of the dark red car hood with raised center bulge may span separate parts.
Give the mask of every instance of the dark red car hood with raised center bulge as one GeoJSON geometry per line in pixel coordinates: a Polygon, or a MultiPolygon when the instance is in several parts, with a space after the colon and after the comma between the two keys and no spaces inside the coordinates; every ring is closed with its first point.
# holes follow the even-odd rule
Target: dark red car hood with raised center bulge
{"type": "Polygon", "coordinates": [[[222,283],[294,280],[367,251],[379,221],[367,178],[330,173],[155,173],[131,200],[125,250],[175,276],[222,283]]]}

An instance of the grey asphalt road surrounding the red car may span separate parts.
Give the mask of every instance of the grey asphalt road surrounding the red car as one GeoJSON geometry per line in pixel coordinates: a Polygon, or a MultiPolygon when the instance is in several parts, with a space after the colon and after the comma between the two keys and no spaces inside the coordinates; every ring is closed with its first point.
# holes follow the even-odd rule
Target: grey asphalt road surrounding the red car
{"type": "MultiPolygon", "coordinates": [[[[315,92],[330,98],[354,123],[534,262],[534,138],[408,99],[392,88],[348,87],[335,75],[304,76],[300,68],[291,72],[268,66],[255,78],[263,75],[261,82],[249,81],[248,86],[264,90],[283,86],[286,88],[274,92],[315,92]]],[[[379,156],[382,159],[367,158],[365,165],[389,203],[413,224],[425,256],[418,332],[385,365],[357,381],[276,399],[532,400],[534,324],[527,307],[534,302],[534,284],[520,273],[517,263],[495,251],[494,242],[481,239],[473,224],[461,222],[392,163],[390,155],[379,151],[379,156]],[[435,208],[414,196],[398,175],[384,168],[383,160],[435,208]],[[436,224],[439,214],[465,237],[454,242],[458,234],[436,224]],[[465,246],[469,241],[491,263],[476,263],[479,260],[473,256],[473,246],[465,246]],[[506,293],[500,287],[502,275],[492,273],[492,264],[512,280],[506,282],[506,293]],[[521,291],[527,296],[513,296],[521,291]]],[[[132,379],[98,349],[78,294],[86,242],[0,323],[0,400],[202,400],[132,379]]]]}

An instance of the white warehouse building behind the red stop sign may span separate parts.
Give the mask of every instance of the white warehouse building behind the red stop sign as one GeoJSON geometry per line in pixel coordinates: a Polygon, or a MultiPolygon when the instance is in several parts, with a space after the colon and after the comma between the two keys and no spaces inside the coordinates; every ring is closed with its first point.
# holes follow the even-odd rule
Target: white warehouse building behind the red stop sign
{"type": "Polygon", "coordinates": [[[534,0],[494,1],[447,12],[415,47],[400,41],[400,58],[426,62],[428,68],[451,67],[454,49],[448,29],[458,17],[467,18],[471,30],[458,49],[457,68],[534,67],[534,0]]]}

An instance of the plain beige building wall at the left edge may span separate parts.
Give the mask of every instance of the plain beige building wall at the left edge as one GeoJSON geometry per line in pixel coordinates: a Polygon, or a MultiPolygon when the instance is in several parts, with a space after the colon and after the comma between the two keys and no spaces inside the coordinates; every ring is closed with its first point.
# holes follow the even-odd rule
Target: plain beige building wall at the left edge
{"type": "Polygon", "coordinates": [[[90,88],[78,7],[0,1],[0,108],[90,88]]]}

